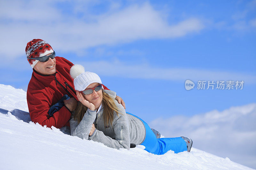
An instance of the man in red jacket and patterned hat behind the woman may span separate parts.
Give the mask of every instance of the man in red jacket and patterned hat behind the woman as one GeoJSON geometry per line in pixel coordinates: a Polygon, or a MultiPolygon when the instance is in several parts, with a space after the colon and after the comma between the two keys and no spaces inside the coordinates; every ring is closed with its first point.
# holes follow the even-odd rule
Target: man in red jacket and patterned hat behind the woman
{"type": "MultiPolygon", "coordinates": [[[[28,84],[27,102],[31,121],[47,127],[61,128],[69,126],[71,112],[76,110],[77,97],[70,77],[70,68],[74,65],[63,57],[55,57],[52,47],[41,39],[33,39],[25,49],[29,64],[33,69],[28,84]],[[48,110],[65,94],[70,99],[64,100],[64,106],[52,116],[48,110]]],[[[109,90],[103,85],[104,89],[109,90]]],[[[124,108],[124,101],[116,96],[124,108]]]]}

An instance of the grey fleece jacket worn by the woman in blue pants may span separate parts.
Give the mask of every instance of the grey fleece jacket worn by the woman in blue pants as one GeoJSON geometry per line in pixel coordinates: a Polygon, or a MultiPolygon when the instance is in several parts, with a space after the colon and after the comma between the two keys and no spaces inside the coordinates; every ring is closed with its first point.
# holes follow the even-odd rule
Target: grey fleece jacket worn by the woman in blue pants
{"type": "Polygon", "coordinates": [[[116,98],[116,92],[104,90],[115,101],[118,111],[121,114],[114,112],[114,119],[111,125],[104,126],[103,105],[101,110],[96,114],[96,110],[87,109],[82,121],[78,124],[74,120],[74,115],[70,119],[70,131],[72,136],[77,136],[82,139],[93,140],[105,144],[111,148],[126,148],[130,149],[130,144],[141,144],[146,135],[144,124],[140,119],[133,115],[126,114],[124,107],[119,104],[116,98]],[[89,133],[92,128],[92,123],[95,124],[95,131],[91,136],[89,133]]]}

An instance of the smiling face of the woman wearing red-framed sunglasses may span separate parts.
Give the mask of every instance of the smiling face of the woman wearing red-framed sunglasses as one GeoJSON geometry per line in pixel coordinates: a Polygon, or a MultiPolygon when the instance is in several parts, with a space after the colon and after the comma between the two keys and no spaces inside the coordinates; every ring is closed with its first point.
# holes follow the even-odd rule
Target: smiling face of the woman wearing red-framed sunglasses
{"type": "MultiPolygon", "coordinates": [[[[92,83],[92,84],[88,85],[88,87],[86,89],[91,89],[97,85],[100,85],[100,84],[92,83]]],[[[87,101],[90,101],[92,104],[94,104],[96,109],[98,109],[100,107],[100,104],[102,101],[102,90],[99,90],[98,92],[93,90],[92,94],[84,94],[84,93],[82,93],[82,94],[84,96],[84,99],[86,99],[87,101]]]]}

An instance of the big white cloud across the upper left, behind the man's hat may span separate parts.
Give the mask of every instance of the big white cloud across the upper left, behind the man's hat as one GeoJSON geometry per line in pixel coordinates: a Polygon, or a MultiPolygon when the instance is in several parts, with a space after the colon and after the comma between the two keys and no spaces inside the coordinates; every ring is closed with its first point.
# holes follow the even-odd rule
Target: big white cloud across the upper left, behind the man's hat
{"type": "MultiPolygon", "coordinates": [[[[139,39],[177,38],[188,33],[197,33],[204,28],[198,18],[187,18],[169,24],[160,11],[149,3],[130,5],[114,12],[100,15],[88,14],[77,18],[74,14],[63,14],[54,8],[52,1],[4,1],[1,2],[0,56],[25,55],[28,41],[44,39],[62,52],[75,52],[99,45],[115,45],[139,39]],[[15,48],[14,48],[15,47],[15,48]]],[[[56,5],[55,5],[56,6],[56,5]]],[[[71,11],[72,11],[72,7],[71,11]]],[[[74,7],[74,10],[77,10],[74,7]]],[[[81,10],[81,9],[80,9],[81,10]]]]}

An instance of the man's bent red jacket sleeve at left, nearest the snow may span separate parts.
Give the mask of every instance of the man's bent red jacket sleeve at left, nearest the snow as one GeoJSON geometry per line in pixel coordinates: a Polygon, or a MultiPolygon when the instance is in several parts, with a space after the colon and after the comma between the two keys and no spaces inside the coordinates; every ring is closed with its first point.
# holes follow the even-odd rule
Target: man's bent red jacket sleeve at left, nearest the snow
{"type": "Polygon", "coordinates": [[[40,91],[28,89],[27,91],[28,110],[32,122],[51,128],[63,127],[70,119],[71,112],[65,106],[55,112],[52,117],[48,115],[49,101],[45,94],[40,91]]]}

